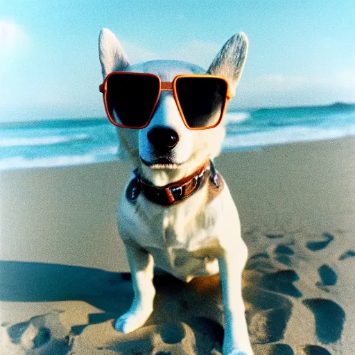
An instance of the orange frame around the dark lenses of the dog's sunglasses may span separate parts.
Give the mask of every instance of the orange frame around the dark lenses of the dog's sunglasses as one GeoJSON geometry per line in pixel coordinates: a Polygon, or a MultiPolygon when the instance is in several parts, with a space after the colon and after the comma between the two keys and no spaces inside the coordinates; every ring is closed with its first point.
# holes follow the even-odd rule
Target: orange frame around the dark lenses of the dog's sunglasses
{"type": "Polygon", "coordinates": [[[136,130],[140,130],[142,128],[146,128],[149,125],[150,120],[152,119],[153,114],[155,112],[155,108],[157,107],[157,103],[159,101],[160,94],[162,93],[162,91],[173,92],[175,103],[178,106],[178,110],[180,112],[180,116],[182,118],[182,121],[184,121],[184,125],[186,125],[186,127],[189,128],[189,130],[207,130],[209,128],[216,127],[220,123],[220,121],[222,121],[223,116],[225,114],[225,111],[227,110],[227,102],[228,102],[228,100],[230,100],[230,98],[233,97],[232,93],[230,92],[230,84],[228,83],[228,81],[225,78],[223,78],[223,76],[214,76],[214,75],[208,75],[208,74],[205,74],[205,75],[178,75],[178,76],[175,76],[175,78],[173,79],[172,82],[169,82],[169,81],[162,81],[162,80],[160,80],[159,76],[157,76],[155,74],[150,74],[150,73],[132,73],[130,71],[112,71],[112,73],[109,73],[106,76],[106,78],[103,81],[103,83],[100,85],[100,92],[103,93],[103,103],[105,105],[105,111],[106,111],[106,114],[107,114],[107,118],[110,120],[110,122],[112,124],[116,125],[117,127],[132,128],[132,129],[136,129],[136,130]],[[159,80],[159,94],[157,95],[157,100],[155,101],[155,104],[153,106],[152,112],[150,112],[149,119],[147,120],[147,123],[145,125],[142,125],[142,126],[139,126],[139,127],[132,127],[132,126],[129,126],[129,125],[121,125],[120,123],[117,123],[116,121],[114,121],[114,119],[112,119],[112,117],[110,115],[110,112],[108,110],[108,107],[107,107],[107,80],[108,80],[108,78],[110,78],[110,76],[115,75],[115,74],[125,74],[125,75],[135,75],[135,76],[136,75],[137,76],[153,76],[153,77],[155,77],[155,78],[157,78],[159,80]],[[182,112],[182,108],[181,108],[181,105],[180,105],[180,102],[179,102],[179,98],[178,98],[178,94],[177,94],[177,91],[176,91],[176,81],[179,78],[218,78],[218,79],[223,80],[226,83],[226,85],[227,85],[227,94],[225,96],[225,102],[223,104],[223,111],[221,112],[218,121],[214,125],[209,125],[208,127],[201,127],[201,128],[192,128],[192,127],[190,127],[187,124],[187,120],[185,119],[184,112],[182,112]]]}

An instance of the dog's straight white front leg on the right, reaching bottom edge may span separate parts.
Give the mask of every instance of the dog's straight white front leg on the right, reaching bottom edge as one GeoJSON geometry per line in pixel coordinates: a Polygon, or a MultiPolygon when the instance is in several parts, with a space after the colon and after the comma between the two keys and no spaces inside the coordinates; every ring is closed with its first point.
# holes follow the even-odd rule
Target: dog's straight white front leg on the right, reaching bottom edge
{"type": "Polygon", "coordinates": [[[241,292],[241,276],[248,250],[244,244],[241,250],[243,252],[225,251],[218,257],[225,313],[223,355],[253,355],[241,292]]]}

